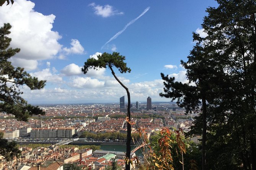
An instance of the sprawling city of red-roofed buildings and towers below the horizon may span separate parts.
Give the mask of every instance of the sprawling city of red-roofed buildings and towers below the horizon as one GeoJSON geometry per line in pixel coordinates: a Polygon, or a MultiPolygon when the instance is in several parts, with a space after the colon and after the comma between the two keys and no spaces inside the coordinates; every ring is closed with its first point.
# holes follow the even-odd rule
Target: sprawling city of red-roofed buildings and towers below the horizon
{"type": "MultiPolygon", "coordinates": [[[[111,165],[112,158],[117,158],[117,164],[124,167],[125,139],[91,139],[82,136],[85,132],[95,135],[106,133],[122,133],[126,135],[125,117],[127,106],[125,105],[125,98],[122,96],[119,104],[40,106],[46,114],[32,116],[28,122],[18,121],[13,115],[6,113],[0,114],[0,126],[5,139],[14,140],[18,144],[41,143],[39,148],[29,148],[26,145],[21,145],[19,147],[21,151],[20,159],[15,158],[5,162],[5,164],[2,161],[0,168],[29,168],[38,165],[40,162],[55,160],[58,163],[56,164],[58,165],[57,167],[70,162],[78,163],[82,161],[83,165],[98,169],[111,165]],[[65,146],[68,142],[70,143],[65,146]],[[105,148],[111,145],[121,146],[123,151],[93,151],[88,148],[77,148],[79,145],[86,146],[86,144],[105,145],[105,148]],[[48,147],[45,147],[47,145],[48,147]],[[65,150],[60,148],[62,145],[65,146],[65,150]]],[[[188,132],[192,125],[193,117],[197,116],[197,114],[186,115],[184,109],[178,107],[175,103],[152,103],[150,97],[147,98],[147,103],[140,103],[139,101],[132,103],[130,109],[133,117],[132,122],[135,123],[132,126],[132,133],[139,133],[139,129],[144,129],[148,138],[163,127],[181,128],[183,132],[188,132]]],[[[200,136],[193,137],[191,140],[199,143],[200,136]]],[[[133,145],[136,145],[136,143],[134,142],[133,145]]],[[[131,152],[131,159],[133,159],[134,164],[135,156],[136,152],[131,152]]],[[[143,162],[141,154],[139,156],[140,162],[143,162]]],[[[53,166],[52,164],[49,164],[48,167],[53,166]]]]}

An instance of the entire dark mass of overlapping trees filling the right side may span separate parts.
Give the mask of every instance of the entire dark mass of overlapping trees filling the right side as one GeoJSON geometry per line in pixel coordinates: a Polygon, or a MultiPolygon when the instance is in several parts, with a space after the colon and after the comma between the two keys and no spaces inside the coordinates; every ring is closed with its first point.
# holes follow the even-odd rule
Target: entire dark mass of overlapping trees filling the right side
{"type": "Polygon", "coordinates": [[[256,169],[256,2],[217,0],[196,45],[181,61],[190,83],[165,80],[161,96],[200,111],[189,132],[202,135],[202,169],[256,169]],[[192,84],[194,83],[194,84],[192,84]]]}

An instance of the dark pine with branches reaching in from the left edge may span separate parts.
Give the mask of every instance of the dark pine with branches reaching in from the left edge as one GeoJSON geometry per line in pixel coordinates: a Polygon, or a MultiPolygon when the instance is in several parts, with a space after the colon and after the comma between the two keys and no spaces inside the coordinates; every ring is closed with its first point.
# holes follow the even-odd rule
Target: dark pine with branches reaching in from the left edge
{"type": "MultiPolygon", "coordinates": [[[[26,121],[33,114],[41,114],[44,112],[37,106],[27,103],[20,95],[20,87],[28,86],[31,90],[41,89],[46,81],[39,81],[36,77],[31,77],[21,67],[13,67],[9,58],[20,52],[19,48],[9,48],[11,38],[6,35],[10,34],[11,25],[4,24],[0,27],[0,111],[7,114],[15,115],[18,120],[26,121]]],[[[17,155],[15,144],[7,143],[7,140],[0,136],[0,154],[10,159],[10,156],[17,155]],[[8,153],[9,152],[9,153],[8,153]]]]}

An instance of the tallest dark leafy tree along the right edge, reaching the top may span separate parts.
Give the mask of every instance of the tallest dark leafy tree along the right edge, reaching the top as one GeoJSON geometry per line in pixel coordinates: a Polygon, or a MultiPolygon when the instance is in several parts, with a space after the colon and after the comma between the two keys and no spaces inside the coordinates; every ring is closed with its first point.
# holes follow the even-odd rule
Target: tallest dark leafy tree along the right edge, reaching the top
{"type": "MultiPolygon", "coordinates": [[[[256,2],[254,0],[217,0],[217,8],[208,8],[202,27],[207,46],[218,51],[215,62],[225,71],[229,89],[223,93],[226,123],[218,122],[228,133],[217,129],[218,138],[229,135],[235,162],[243,169],[256,169],[256,2]],[[221,135],[222,134],[222,135],[221,135]],[[235,149],[239,148],[239,149],[235,149]]],[[[220,68],[221,68],[220,67],[220,68]]],[[[217,139],[216,137],[214,139],[217,139]]],[[[223,142],[222,145],[225,146],[223,142]]],[[[227,153],[225,153],[227,154],[227,153]]],[[[217,154],[217,159],[223,159],[217,154]]]]}

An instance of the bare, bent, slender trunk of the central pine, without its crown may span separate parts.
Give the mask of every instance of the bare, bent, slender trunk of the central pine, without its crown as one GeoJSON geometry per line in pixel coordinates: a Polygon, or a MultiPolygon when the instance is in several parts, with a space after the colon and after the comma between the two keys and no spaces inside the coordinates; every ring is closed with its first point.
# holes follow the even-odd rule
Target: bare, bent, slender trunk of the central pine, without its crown
{"type": "Polygon", "coordinates": [[[128,105],[127,105],[128,121],[127,121],[126,157],[128,158],[129,162],[126,162],[126,170],[130,170],[130,149],[131,149],[130,141],[132,140],[132,137],[131,137],[131,125],[130,125],[130,120],[131,120],[130,119],[130,92],[129,92],[129,89],[116,77],[116,74],[113,71],[111,65],[109,65],[109,68],[110,68],[113,76],[117,80],[117,82],[126,90],[127,97],[128,97],[128,105]]]}

